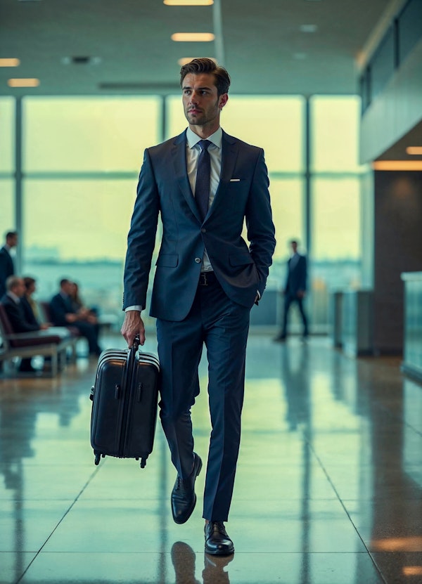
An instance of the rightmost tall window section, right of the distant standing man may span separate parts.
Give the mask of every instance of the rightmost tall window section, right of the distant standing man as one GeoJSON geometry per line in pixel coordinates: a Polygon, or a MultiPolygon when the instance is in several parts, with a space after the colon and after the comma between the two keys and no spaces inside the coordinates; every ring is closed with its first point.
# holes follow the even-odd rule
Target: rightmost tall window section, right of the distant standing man
{"type": "Polygon", "coordinates": [[[332,290],[362,283],[360,100],[315,96],[310,101],[310,217],[312,256],[309,308],[314,330],[328,322],[332,290]]]}

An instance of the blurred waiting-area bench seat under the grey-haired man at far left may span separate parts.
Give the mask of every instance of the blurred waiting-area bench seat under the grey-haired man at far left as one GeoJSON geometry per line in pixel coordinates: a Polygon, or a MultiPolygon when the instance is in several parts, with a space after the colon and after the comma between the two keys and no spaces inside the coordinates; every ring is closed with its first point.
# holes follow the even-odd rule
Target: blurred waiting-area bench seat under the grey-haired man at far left
{"type": "Polygon", "coordinates": [[[77,337],[68,329],[51,327],[47,330],[15,333],[1,303],[0,335],[3,342],[0,349],[0,361],[12,361],[16,357],[50,357],[51,375],[54,377],[65,365],[68,349],[72,361],[76,359],[77,337]]]}

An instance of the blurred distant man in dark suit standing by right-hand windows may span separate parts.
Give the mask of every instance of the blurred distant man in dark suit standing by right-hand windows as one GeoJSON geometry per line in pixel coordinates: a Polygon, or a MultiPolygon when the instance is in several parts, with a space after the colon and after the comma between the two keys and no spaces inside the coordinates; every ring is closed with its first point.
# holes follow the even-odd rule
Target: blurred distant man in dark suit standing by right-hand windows
{"type": "Polygon", "coordinates": [[[303,300],[305,299],[306,287],[307,287],[307,259],[305,256],[298,253],[298,242],[295,240],[290,241],[292,247],[292,255],[287,262],[287,275],[286,284],[284,286],[284,316],[283,316],[283,328],[275,341],[284,341],[287,337],[287,323],[288,323],[288,311],[290,306],[295,302],[298,304],[298,309],[300,311],[300,316],[302,316],[303,323],[303,339],[306,339],[308,332],[308,323],[305,309],[303,306],[303,300]]]}

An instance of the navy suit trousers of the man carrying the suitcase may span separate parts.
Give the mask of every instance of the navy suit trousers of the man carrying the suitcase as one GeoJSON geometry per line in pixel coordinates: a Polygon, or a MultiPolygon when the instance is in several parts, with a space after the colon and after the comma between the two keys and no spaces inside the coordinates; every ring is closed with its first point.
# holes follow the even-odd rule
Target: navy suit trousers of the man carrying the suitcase
{"type": "Polygon", "coordinates": [[[203,517],[227,521],[241,439],[250,309],[231,301],[214,273],[208,280],[209,285],[198,285],[184,320],[157,320],[160,419],[173,465],[186,479],[193,469],[191,407],[200,391],[198,365],[205,344],[212,431],[203,517]]]}

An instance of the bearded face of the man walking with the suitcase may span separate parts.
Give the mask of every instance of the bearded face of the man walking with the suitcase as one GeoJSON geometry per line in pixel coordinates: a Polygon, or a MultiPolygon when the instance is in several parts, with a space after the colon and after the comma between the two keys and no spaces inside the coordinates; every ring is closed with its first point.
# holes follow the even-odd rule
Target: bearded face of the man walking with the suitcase
{"type": "Polygon", "coordinates": [[[214,75],[188,73],[182,83],[184,114],[191,126],[219,126],[220,111],[229,96],[217,95],[214,75]]]}

